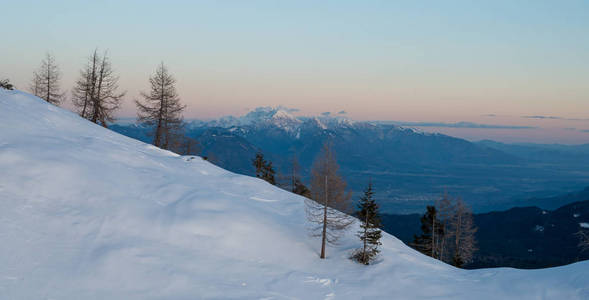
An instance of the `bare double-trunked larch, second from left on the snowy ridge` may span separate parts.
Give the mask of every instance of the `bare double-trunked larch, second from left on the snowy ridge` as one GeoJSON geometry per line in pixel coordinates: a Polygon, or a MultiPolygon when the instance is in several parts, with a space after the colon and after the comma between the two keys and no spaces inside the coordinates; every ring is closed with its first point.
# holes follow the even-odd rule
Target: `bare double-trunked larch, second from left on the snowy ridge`
{"type": "Polygon", "coordinates": [[[107,53],[100,56],[94,50],[72,90],[72,102],[80,116],[108,127],[125,96],[125,92],[117,92],[118,82],[107,53]]]}

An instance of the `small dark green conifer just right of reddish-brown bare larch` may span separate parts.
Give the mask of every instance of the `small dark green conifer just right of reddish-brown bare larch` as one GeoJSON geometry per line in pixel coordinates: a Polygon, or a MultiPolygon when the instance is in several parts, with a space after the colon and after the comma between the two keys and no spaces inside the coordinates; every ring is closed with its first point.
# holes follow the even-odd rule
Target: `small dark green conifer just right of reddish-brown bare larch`
{"type": "Polygon", "coordinates": [[[380,252],[378,246],[381,245],[380,238],[382,233],[380,231],[380,216],[378,214],[378,204],[373,199],[374,192],[372,190],[372,182],[368,183],[368,187],[364,191],[364,196],[360,198],[358,204],[358,219],[360,220],[360,230],[358,237],[362,240],[363,247],[359,251],[356,251],[353,258],[365,265],[368,265],[370,261],[380,252]]]}

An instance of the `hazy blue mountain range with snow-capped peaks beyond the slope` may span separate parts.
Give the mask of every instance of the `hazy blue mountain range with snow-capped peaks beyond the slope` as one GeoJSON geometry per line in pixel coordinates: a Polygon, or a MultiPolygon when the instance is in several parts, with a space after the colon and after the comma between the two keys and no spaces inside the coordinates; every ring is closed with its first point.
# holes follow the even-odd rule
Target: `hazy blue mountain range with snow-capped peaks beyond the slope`
{"type": "MultiPolygon", "coordinates": [[[[149,128],[141,125],[115,124],[111,129],[151,141],[149,128]]],[[[258,151],[273,162],[279,174],[289,174],[296,157],[304,181],[309,179],[322,144],[330,141],[356,198],[371,180],[376,198],[389,213],[421,211],[445,191],[482,212],[589,184],[589,168],[579,163],[588,161],[589,155],[570,146],[546,149],[474,143],[337,115],[299,117],[283,107],[260,107],[241,117],[192,120],[187,122],[186,134],[199,142],[198,154],[240,174],[253,174],[251,159],[258,151]]]]}

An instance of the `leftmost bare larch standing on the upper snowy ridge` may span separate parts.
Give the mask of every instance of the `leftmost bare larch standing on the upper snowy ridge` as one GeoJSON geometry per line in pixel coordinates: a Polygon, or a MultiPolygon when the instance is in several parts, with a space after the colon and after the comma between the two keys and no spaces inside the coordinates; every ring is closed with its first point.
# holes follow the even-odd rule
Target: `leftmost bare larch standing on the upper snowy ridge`
{"type": "Polygon", "coordinates": [[[45,54],[39,69],[33,73],[30,91],[37,97],[55,105],[59,105],[65,93],[59,88],[61,74],[55,63],[55,58],[50,53],[45,54]]]}

